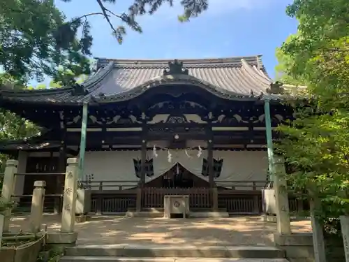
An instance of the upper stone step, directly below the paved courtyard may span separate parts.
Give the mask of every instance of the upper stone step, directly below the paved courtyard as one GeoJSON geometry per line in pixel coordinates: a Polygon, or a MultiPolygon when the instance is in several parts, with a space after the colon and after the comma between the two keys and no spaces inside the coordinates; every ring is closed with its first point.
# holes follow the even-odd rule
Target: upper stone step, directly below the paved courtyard
{"type": "Polygon", "coordinates": [[[283,259],[285,252],[266,246],[84,245],[68,247],[66,256],[283,259]]]}

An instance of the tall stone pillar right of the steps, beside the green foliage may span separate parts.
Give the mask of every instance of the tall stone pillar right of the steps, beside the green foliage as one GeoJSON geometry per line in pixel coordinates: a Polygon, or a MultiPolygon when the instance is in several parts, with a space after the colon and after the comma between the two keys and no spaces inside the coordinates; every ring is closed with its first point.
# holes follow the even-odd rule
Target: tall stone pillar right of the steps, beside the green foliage
{"type": "Polygon", "coordinates": [[[290,234],[290,209],[288,208],[285,160],[283,157],[274,156],[273,168],[277,231],[281,235],[290,234]]]}

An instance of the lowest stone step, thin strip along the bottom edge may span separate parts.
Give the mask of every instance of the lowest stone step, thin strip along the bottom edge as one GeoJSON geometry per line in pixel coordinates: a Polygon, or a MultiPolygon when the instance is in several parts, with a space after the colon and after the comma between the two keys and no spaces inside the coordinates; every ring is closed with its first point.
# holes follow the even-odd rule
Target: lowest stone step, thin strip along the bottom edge
{"type": "Polygon", "coordinates": [[[59,262],[288,262],[287,259],[241,259],[241,258],[143,258],[123,256],[64,256],[59,262]]]}

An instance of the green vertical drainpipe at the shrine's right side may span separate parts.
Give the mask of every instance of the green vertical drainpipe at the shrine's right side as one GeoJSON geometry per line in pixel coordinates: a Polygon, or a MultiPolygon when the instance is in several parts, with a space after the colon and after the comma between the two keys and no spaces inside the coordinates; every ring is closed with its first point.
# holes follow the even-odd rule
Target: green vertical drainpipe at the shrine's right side
{"type": "MultiPolygon", "coordinates": [[[[272,137],[272,117],[270,116],[270,99],[264,101],[265,111],[265,135],[267,137],[268,161],[269,161],[269,182],[274,180],[274,148],[272,137]]],[[[269,183],[269,187],[272,183],[269,183]]]]}

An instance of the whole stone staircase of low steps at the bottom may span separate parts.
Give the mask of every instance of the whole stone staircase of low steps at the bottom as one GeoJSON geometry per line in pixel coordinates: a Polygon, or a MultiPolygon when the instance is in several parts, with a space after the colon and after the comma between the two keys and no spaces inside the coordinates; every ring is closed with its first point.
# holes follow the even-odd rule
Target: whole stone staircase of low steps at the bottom
{"type": "Polygon", "coordinates": [[[288,262],[276,247],[85,245],[68,247],[59,262],[288,262]]]}

